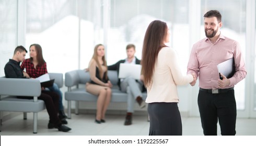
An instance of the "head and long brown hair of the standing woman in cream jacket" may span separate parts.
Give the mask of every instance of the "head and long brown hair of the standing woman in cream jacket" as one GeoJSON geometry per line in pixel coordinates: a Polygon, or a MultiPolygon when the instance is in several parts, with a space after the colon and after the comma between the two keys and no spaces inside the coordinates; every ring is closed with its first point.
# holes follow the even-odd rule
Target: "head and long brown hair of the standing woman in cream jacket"
{"type": "Polygon", "coordinates": [[[152,21],[146,30],[141,60],[142,75],[146,87],[152,81],[158,53],[162,47],[166,46],[164,43],[167,33],[168,27],[166,22],[160,20],[152,21]]]}

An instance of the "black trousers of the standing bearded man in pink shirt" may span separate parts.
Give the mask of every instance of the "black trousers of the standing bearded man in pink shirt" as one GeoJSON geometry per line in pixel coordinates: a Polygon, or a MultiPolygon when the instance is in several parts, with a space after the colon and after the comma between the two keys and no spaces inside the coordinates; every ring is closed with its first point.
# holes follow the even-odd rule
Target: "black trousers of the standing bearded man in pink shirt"
{"type": "Polygon", "coordinates": [[[200,90],[197,103],[205,136],[217,135],[218,122],[221,135],[236,135],[237,108],[234,89],[218,94],[200,90]]]}

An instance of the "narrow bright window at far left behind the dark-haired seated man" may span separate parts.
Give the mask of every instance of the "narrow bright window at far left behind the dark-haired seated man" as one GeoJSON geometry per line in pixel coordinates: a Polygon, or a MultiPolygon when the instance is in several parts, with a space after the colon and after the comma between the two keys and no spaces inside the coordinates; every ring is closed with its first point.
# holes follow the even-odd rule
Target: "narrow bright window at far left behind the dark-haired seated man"
{"type": "Polygon", "coordinates": [[[1,0],[0,14],[0,77],[3,77],[4,66],[17,45],[17,1],[1,0]]]}

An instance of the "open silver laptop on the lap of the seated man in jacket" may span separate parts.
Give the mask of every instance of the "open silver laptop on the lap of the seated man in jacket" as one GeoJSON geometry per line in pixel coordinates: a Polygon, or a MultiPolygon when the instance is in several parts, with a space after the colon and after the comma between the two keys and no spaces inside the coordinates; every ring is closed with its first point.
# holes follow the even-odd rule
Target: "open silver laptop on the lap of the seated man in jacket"
{"type": "Polygon", "coordinates": [[[139,64],[124,64],[121,63],[119,66],[118,78],[133,77],[136,80],[140,79],[142,66],[139,64]]]}

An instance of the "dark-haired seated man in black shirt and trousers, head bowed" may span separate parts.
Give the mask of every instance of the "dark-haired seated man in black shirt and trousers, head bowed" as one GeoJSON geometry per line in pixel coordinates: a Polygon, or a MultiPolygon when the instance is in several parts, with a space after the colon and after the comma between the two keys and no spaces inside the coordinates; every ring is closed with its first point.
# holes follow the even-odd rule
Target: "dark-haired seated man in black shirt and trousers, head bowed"
{"type": "MultiPolygon", "coordinates": [[[[23,74],[23,71],[20,68],[20,62],[25,59],[27,50],[23,46],[17,46],[14,51],[14,56],[12,59],[9,59],[9,62],[5,65],[5,77],[6,78],[26,78],[23,74]]],[[[33,97],[29,96],[18,96],[20,99],[33,99],[33,97]]],[[[44,91],[42,88],[41,95],[38,97],[39,100],[43,100],[47,112],[49,114],[50,120],[48,124],[48,128],[57,128],[59,131],[67,132],[71,130],[71,128],[63,125],[61,120],[57,116],[59,112],[59,95],[50,92],[44,91]]]]}

